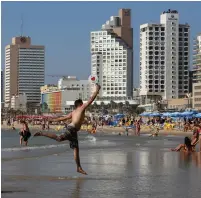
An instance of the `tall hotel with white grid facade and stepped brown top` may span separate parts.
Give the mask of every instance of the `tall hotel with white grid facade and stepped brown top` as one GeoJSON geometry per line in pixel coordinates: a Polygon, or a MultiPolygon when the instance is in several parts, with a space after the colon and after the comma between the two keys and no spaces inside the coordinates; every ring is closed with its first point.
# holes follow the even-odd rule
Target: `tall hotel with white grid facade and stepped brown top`
{"type": "Polygon", "coordinates": [[[120,9],[100,31],[91,32],[91,74],[102,87],[100,98],[126,99],[133,92],[131,10],[120,9]]]}

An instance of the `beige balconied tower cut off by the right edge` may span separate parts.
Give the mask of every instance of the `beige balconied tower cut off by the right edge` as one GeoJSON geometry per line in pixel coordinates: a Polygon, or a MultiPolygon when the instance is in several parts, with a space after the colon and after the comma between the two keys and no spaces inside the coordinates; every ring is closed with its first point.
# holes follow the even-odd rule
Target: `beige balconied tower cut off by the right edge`
{"type": "Polygon", "coordinates": [[[201,110],[201,34],[193,45],[193,107],[201,110]]]}

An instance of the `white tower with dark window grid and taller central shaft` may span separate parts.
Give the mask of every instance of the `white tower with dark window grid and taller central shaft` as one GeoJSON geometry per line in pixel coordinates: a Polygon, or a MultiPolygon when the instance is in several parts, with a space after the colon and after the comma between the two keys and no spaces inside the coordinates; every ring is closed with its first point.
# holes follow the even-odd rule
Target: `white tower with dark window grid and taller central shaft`
{"type": "Polygon", "coordinates": [[[160,24],[140,26],[140,95],[143,103],[182,98],[189,88],[188,24],[176,10],[161,14],[160,24]]]}

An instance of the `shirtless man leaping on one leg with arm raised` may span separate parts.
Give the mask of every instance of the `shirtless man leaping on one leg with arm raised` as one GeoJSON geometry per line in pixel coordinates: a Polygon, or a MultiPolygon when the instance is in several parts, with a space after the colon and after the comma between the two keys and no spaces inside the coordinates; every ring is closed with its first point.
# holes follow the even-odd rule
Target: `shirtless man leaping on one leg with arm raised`
{"type": "Polygon", "coordinates": [[[85,117],[85,110],[86,108],[91,105],[91,103],[95,100],[96,96],[99,93],[100,85],[96,84],[96,90],[88,100],[88,102],[84,103],[81,99],[78,99],[75,101],[75,110],[69,113],[65,117],[56,118],[51,121],[58,122],[58,121],[64,121],[68,119],[72,119],[71,123],[67,126],[67,130],[65,133],[57,136],[56,134],[52,133],[43,133],[43,132],[37,132],[34,136],[45,136],[51,139],[54,139],[58,142],[69,140],[70,142],[70,148],[74,149],[74,159],[77,164],[77,172],[82,173],[84,175],[87,175],[87,173],[82,169],[80,164],[80,156],[79,156],[79,145],[78,145],[78,136],[77,132],[80,130],[82,122],[84,121],[85,117]]]}

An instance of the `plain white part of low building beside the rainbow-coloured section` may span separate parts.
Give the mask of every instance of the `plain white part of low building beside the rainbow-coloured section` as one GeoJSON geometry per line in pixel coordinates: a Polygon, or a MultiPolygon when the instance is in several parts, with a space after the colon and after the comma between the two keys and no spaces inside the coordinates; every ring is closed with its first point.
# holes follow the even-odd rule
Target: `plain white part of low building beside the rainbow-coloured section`
{"type": "MultiPolygon", "coordinates": [[[[67,78],[61,78],[58,81],[58,89],[67,90],[74,97],[74,100],[80,98],[87,100],[91,96],[90,84],[88,80],[78,80],[76,76],[69,76],[67,78]]],[[[71,98],[72,98],[71,97],[71,98]]],[[[73,100],[73,99],[70,99],[73,100]]]]}

